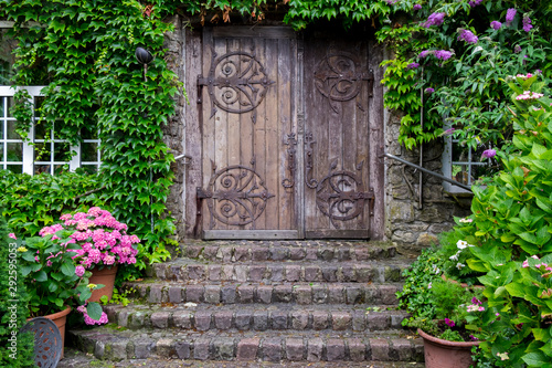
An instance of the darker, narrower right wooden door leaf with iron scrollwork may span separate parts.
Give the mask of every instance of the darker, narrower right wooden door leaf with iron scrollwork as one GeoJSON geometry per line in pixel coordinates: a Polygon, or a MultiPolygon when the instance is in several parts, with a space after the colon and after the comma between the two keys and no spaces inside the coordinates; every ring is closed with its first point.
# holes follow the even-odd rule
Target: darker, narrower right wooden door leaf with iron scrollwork
{"type": "Polygon", "coordinates": [[[368,59],[362,41],[306,42],[307,238],[370,236],[368,59]]]}

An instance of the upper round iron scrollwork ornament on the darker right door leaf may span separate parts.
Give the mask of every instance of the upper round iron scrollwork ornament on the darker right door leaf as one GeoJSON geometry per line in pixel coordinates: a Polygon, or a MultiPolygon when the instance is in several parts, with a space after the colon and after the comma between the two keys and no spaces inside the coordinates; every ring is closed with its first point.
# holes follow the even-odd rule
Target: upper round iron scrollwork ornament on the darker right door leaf
{"type": "MultiPolygon", "coordinates": [[[[339,113],[340,103],[357,97],[362,91],[362,82],[369,81],[368,96],[373,96],[374,73],[361,71],[358,57],[349,52],[330,52],[315,71],[316,88],[330,102],[331,108],[339,113]]],[[[360,102],[357,106],[364,111],[360,102]]]]}

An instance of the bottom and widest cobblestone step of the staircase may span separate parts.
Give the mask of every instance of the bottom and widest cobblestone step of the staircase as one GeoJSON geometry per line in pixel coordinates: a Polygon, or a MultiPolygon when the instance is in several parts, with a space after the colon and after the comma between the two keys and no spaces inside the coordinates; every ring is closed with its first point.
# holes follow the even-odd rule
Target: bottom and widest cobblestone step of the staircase
{"type": "Polygon", "coordinates": [[[68,341],[98,359],[227,361],[423,361],[423,343],[410,333],[70,330],[68,341]]]}

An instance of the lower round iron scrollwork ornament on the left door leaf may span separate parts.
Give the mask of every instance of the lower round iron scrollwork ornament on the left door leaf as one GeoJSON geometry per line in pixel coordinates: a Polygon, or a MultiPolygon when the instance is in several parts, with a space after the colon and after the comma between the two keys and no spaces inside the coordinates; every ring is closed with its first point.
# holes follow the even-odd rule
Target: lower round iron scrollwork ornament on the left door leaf
{"type": "Polygon", "coordinates": [[[206,190],[198,188],[198,198],[206,199],[211,214],[211,229],[215,219],[227,225],[253,224],[273,198],[263,179],[242,165],[229,166],[213,174],[206,190]]]}

